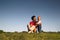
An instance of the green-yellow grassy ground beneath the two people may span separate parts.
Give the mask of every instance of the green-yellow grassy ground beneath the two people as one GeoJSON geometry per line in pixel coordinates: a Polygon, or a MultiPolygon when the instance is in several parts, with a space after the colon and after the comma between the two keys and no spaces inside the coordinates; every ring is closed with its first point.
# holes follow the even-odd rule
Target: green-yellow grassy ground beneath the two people
{"type": "Polygon", "coordinates": [[[0,33],[0,40],[60,40],[60,33],[0,33]]]}

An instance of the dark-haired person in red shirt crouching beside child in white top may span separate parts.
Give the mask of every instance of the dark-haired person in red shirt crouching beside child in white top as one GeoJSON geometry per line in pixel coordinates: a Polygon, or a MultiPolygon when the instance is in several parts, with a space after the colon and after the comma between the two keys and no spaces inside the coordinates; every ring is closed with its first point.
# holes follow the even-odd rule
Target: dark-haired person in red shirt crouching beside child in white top
{"type": "Polygon", "coordinates": [[[36,16],[31,17],[32,21],[27,25],[28,33],[36,32],[36,16]]]}

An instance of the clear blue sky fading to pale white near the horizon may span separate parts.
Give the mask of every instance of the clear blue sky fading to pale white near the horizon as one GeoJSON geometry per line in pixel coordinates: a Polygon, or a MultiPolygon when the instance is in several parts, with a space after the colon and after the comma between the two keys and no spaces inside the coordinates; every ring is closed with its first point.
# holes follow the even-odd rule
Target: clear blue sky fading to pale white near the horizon
{"type": "Polygon", "coordinates": [[[0,0],[0,30],[27,31],[33,15],[41,16],[43,31],[60,31],[60,0],[0,0]]]}

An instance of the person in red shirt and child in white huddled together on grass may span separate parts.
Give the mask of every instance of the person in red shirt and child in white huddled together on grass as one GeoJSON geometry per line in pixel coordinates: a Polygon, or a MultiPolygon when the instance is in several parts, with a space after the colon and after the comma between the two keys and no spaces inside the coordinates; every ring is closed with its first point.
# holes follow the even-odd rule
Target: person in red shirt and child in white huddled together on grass
{"type": "Polygon", "coordinates": [[[37,21],[36,21],[36,16],[32,16],[31,20],[32,21],[29,22],[29,24],[27,25],[28,33],[34,33],[37,31],[38,31],[38,33],[40,33],[41,32],[41,26],[42,26],[41,17],[38,16],[37,21]]]}

